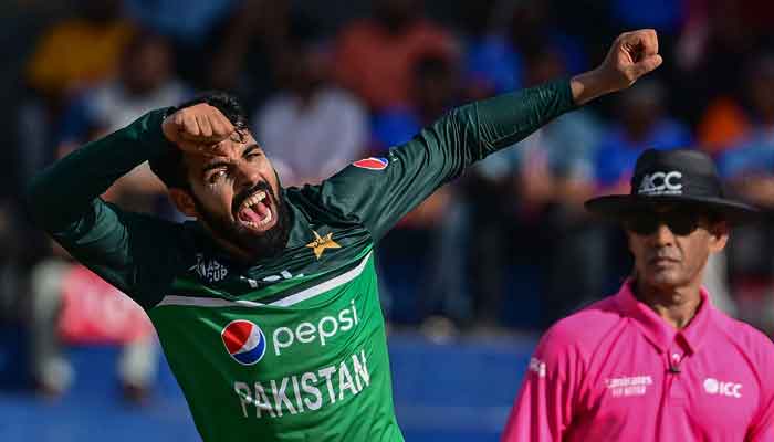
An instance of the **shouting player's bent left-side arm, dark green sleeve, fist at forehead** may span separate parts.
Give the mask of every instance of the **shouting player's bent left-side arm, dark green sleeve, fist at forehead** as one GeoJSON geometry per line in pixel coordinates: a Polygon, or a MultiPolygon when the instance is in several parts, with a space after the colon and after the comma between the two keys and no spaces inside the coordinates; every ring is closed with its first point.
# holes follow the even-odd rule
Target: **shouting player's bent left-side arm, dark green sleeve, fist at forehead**
{"type": "Polygon", "coordinates": [[[177,112],[167,120],[164,117],[169,109],[150,112],[56,161],[39,173],[27,191],[30,213],[43,230],[73,257],[146,307],[164,295],[160,291],[176,265],[180,229],[154,217],[123,211],[100,196],[148,159],[169,149],[201,149],[201,144],[233,131],[228,120],[220,119],[222,115],[213,117],[213,124],[209,118],[191,120],[194,108],[177,112]]]}

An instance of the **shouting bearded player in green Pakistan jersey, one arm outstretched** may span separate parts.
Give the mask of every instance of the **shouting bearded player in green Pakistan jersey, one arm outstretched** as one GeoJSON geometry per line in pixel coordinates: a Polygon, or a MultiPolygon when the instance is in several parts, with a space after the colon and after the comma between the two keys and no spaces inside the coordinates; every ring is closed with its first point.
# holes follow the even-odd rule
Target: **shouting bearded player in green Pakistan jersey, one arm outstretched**
{"type": "Polygon", "coordinates": [[[660,64],[655,31],[624,33],[594,71],[453,109],[303,188],[281,187],[238,104],[211,95],[80,148],[34,179],[29,204],[147,311],[203,440],[402,441],[375,244],[473,161],[660,64]],[[100,198],[144,161],[196,221],[100,198]]]}

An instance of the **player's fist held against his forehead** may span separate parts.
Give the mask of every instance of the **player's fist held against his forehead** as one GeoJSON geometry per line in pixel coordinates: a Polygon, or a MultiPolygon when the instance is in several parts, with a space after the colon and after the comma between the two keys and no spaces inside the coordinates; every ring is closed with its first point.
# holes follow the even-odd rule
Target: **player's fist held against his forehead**
{"type": "Polygon", "coordinates": [[[234,127],[218,108],[200,103],[169,115],[164,120],[161,130],[182,151],[227,155],[220,141],[229,138],[234,133],[234,127]]]}

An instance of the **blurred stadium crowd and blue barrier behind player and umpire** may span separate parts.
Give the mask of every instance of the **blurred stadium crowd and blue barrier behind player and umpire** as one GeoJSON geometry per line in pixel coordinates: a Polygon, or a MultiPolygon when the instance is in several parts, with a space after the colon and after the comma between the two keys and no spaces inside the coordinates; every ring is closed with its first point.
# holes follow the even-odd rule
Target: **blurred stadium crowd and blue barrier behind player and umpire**
{"type": "MultiPolygon", "coordinates": [[[[541,330],[627,274],[620,232],[580,203],[627,191],[644,148],[704,149],[730,188],[774,206],[773,24],[764,0],[3,0],[0,440],[197,440],[142,318],[27,221],[35,170],[223,88],[284,183],[315,181],[456,104],[589,69],[620,31],[656,28],[666,62],[651,78],[477,166],[381,243],[406,439],[496,440],[541,330]],[[116,311],[123,328],[104,316],[116,311]]],[[[142,171],[105,197],[179,217],[142,171]]],[[[735,232],[707,284],[771,334],[768,225],[735,232]]]]}

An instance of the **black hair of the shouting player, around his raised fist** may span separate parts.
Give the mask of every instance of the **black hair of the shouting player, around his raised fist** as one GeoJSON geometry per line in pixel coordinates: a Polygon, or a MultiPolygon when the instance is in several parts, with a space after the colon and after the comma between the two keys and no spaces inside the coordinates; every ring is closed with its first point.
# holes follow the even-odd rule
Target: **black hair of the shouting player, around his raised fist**
{"type": "MultiPolygon", "coordinates": [[[[234,126],[234,129],[239,136],[244,136],[249,130],[248,118],[242,110],[242,106],[239,104],[239,101],[237,101],[234,96],[224,92],[212,92],[196,97],[169,109],[167,112],[167,116],[172,115],[177,110],[201,103],[207,103],[220,110],[223,116],[226,116],[226,118],[228,118],[234,126]]],[[[166,154],[149,160],[148,164],[150,165],[150,170],[153,170],[153,172],[156,173],[161,181],[164,181],[167,188],[190,190],[188,171],[186,170],[186,164],[180,149],[169,149],[166,154]]]]}

